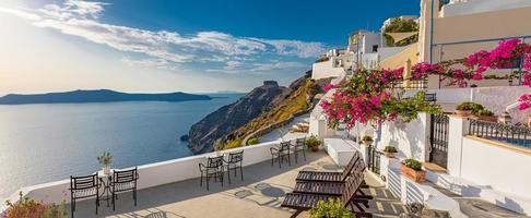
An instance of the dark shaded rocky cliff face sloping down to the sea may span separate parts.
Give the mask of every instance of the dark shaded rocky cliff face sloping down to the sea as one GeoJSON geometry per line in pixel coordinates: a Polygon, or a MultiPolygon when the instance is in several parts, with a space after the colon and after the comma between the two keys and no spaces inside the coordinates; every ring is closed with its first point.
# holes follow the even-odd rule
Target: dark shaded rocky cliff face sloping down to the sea
{"type": "Polygon", "coordinates": [[[188,146],[194,154],[212,152],[214,141],[271,109],[287,89],[274,81],[263,82],[262,86],[252,89],[238,101],[217,109],[193,124],[188,146]]]}

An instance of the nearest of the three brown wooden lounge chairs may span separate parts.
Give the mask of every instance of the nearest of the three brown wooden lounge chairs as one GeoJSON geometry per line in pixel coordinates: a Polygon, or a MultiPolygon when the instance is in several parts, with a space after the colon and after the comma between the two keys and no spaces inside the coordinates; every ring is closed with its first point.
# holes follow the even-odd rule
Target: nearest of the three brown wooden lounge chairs
{"type": "Polygon", "coordinates": [[[296,211],[292,217],[297,217],[302,211],[316,207],[319,201],[329,201],[330,198],[335,197],[343,202],[345,208],[350,207],[356,217],[373,217],[373,215],[366,213],[365,208],[362,207],[362,205],[368,207],[368,199],[371,197],[356,195],[362,183],[363,177],[349,177],[345,182],[345,189],[340,196],[330,194],[288,193],[281,206],[295,209],[296,211]],[[355,211],[354,207],[357,208],[357,211],[355,211]]]}

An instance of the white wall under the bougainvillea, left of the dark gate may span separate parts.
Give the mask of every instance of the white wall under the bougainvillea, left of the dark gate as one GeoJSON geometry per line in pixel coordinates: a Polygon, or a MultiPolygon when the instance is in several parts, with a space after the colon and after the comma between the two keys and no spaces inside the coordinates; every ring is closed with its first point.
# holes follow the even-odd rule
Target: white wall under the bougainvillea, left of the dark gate
{"type": "Polygon", "coordinates": [[[387,145],[398,148],[397,157],[413,157],[420,161],[426,160],[426,149],[429,136],[429,114],[418,113],[418,118],[404,123],[402,121],[385,122],[379,137],[376,138],[378,148],[387,145]]]}

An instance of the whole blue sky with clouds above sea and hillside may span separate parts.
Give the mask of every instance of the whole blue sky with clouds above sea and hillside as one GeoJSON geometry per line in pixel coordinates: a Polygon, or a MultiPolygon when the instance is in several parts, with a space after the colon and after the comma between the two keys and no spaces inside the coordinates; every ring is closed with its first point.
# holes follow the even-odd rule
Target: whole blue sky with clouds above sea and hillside
{"type": "Polygon", "coordinates": [[[2,0],[0,95],[248,92],[417,0],[2,0]]]}

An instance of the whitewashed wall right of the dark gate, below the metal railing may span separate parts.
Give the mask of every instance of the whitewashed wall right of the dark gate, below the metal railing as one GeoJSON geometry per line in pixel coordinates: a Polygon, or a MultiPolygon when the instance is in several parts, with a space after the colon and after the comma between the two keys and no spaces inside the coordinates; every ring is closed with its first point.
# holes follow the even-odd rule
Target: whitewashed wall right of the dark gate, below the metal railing
{"type": "Polygon", "coordinates": [[[463,136],[468,134],[468,128],[467,119],[450,116],[449,174],[428,173],[427,179],[464,197],[480,197],[500,207],[531,215],[531,153],[502,147],[493,141],[463,136]]]}

